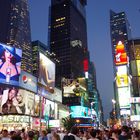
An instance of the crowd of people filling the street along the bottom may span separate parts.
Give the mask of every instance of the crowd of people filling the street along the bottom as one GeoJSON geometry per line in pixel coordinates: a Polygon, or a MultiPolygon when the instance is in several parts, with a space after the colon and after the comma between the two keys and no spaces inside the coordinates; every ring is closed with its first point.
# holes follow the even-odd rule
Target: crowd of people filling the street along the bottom
{"type": "Polygon", "coordinates": [[[25,129],[21,131],[2,130],[0,140],[140,140],[140,130],[122,126],[121,129],[78,129],[72,127],[70,132],[43,130],[41,132],[25,129]]]}

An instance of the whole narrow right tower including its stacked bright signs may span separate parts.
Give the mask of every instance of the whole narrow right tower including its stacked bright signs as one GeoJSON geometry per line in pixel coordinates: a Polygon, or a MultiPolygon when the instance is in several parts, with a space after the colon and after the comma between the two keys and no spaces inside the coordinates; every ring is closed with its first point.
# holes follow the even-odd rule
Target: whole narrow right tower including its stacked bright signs
{"type": "Polygon", "coordinates": [[[115,13],[110,11],[110,35],[114,69],[114,96],[116,100],[112,103],[114,110],[117,111],[117,114],[114,113],[115,117],[116,115],[119,117],[119,115],[124,115],[124,109],[127,110],[125,115],[130,115],[131,83],[128,70],[128,39],[131,38],[131,29],[124,12],[115,13]],[[125,100],[123,100],[124,97],[125,100]]]}

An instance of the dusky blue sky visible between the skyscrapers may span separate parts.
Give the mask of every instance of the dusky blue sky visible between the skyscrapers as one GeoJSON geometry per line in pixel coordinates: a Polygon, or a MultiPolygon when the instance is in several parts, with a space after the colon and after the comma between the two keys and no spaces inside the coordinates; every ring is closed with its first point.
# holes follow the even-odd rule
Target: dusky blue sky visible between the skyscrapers
{"type": "MultiPolygon", "coordinates": [[[[105,118],[109,116],[113,98],[113,69],[109,11],[126,12],[132,37],[140,37],[140,0],[87,0],[87,35],[91,61],[97,73],[98,90],[105,118]]],[[[50,0],[29,0],[32,40],[47,44],[50,0]]]]}

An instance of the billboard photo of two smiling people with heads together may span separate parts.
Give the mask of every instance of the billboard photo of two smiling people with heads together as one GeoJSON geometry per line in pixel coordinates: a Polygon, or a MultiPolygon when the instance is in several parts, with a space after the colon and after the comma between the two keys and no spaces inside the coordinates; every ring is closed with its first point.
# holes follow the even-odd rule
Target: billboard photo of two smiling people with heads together
{"type": "Polygon", "coordinates": [[[0,113],[34,115],[34,94],[15,87],[1,88],[0,113]]]}

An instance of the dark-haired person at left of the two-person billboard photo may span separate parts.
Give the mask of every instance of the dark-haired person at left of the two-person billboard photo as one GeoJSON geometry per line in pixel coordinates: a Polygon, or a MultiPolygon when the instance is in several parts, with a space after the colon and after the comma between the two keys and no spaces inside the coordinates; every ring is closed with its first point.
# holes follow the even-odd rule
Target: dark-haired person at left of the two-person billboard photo
{"type": "Polygon", "coordinates": [[[16,114],[17,110],[16,107],[14,106],[13,102],[16,100],[16,95],[18,93],[18,90],[16,88],[11,88],[8,91],[8,99],[6,103],[2,105],[2,113],[3,114],[16,114]]]}

